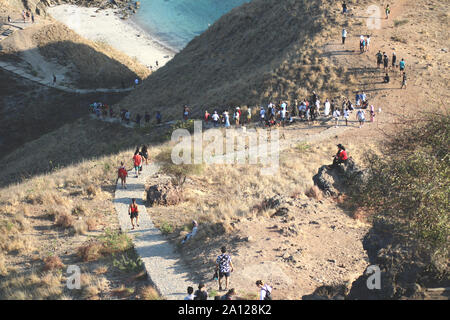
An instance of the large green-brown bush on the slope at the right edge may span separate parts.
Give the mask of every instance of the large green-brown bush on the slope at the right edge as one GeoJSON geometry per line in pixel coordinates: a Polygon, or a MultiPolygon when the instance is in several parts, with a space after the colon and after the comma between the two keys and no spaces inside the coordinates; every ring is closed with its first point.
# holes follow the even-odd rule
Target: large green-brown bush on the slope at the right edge
{"type": "Polygon", "coordinates": [[[450,117],[417,123],[389,138],[383,156],[367,155],[369,178],[352,198],[375,212],[374,225],[421,249],[439,268],[449,254],[450,117]]]}

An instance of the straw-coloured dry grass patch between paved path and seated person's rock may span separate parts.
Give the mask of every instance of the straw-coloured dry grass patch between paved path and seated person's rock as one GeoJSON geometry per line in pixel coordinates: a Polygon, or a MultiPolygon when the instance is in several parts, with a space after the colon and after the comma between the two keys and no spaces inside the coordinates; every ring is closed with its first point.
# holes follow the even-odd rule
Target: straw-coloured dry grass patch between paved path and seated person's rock
{"type": "MultiPolygon", "coordinates": [[[[202,227],[194,242],[202,242],[216,234],[231,232],[233,221],[270,217],[275,210],[267,209],[264,201],[273,196],[321,200],[322,192],[314,186],[312,177],[321,165],[331,163],[335,149],[333,141],[299,144],[281,154],[280,170],[274,175],[261,175],[257,165],[204,164],[202,170],[197,166],[192,171],[185,170],[188,176],[183,191],[185,201],[177,206],[148,210],[155,225],[178,241],[190,231],[192,220],[198,221],[202,227]]],[[[349,144],[348,149],[356,161],[360,160],[354,145],[349,144]]],[[[174,174],[166,169],[162,166],[164,174],[174,174]]],[[[149,185],[158,179],[165,177],[152,179],[149,185]]]]}

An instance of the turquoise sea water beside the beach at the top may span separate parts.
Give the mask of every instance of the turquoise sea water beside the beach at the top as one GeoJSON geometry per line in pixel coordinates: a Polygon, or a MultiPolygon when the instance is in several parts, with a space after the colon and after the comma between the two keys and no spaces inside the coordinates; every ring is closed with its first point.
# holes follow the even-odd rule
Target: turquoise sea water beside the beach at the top
{"type": "Polygon", "coordinates": [[[250,0],[141,0],[134,20],[163,43],[183,49],[225,13],[250,0]]]}

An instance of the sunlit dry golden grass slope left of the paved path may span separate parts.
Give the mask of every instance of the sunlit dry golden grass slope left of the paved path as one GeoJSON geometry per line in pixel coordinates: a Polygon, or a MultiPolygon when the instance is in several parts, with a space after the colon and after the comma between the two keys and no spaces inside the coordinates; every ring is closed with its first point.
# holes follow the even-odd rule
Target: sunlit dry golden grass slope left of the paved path
{"type": "Polygon", "coordinates": [[[1,299],[140,298],[147,277],[111,202],[115,167],[128,158],[85,161],[2,189],[1,299]],[[66,288],[68,265],[81,267],[80,290],[66,288]]]}

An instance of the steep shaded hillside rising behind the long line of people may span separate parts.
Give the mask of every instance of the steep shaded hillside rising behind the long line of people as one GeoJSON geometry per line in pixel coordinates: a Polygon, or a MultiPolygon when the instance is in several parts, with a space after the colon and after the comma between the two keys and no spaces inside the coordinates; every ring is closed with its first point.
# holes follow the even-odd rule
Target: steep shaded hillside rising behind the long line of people
{"type": "Polygon", "coordinates": [[[184,104],[198,116],[209,106],[293,101],[312,90],[340,95],[351,87],[350,75],[321,58],[319,49],[333,32],[339,34],[345,21],[339,10],[336,1],[244,4],[193,39],[122,104],[160,108],[165,118],[176,119],[184,104]]]}

